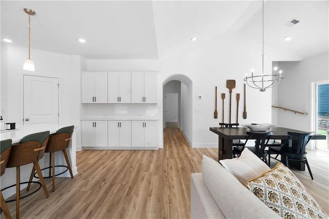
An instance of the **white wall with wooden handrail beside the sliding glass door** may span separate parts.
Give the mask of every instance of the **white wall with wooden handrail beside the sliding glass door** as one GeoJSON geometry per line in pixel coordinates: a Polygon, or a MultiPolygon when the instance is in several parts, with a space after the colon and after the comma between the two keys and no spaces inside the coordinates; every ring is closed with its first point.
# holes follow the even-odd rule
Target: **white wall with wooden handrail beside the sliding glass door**
{"type": "Polygon", "coordinates": [[[278,86],[278,105],[308,115],[294,114],[276,109],[278,126],[301,131],[311,129],[311,83],[329,80],[328,52],[318,54],[300,62],[278,62],[286,78],[278,86]]]}

